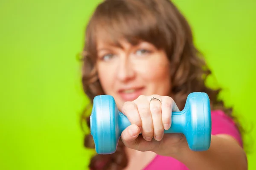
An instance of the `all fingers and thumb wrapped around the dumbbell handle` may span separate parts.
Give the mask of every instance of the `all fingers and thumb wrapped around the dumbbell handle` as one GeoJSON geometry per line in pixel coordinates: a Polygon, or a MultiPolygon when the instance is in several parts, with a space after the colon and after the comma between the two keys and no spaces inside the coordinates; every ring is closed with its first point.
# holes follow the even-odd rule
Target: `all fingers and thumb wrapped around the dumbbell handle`
{"type": "Polygon", "coordinates": [[[169,96],[140,96],[133,102],[125,102],[122,113],[127,116],[132,125],[122,133],[123,140],[127,144],[125,145],[134,148],[138,147],[140,140],[149,142],[153,137],[156,141],[162,140],[164,130],[171,127],[172,111],[179,111],[179,109],[169,96]],[[154,98],[151,100],[152,97],[154,98]],[[142,136],[139,136],[140,133],[142,136]]]}

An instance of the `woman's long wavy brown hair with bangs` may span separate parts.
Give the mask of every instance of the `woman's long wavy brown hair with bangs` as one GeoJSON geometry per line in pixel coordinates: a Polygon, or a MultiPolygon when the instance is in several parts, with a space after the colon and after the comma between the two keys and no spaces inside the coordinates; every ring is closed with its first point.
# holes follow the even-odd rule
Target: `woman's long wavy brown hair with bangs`
{"type": "MultiPolygon", "coordinates": [[[[96,7],[86,30],[82,58],[82,85],[91,104],[96,95],[104,94],[95,67],[97,51],[96,37],[120,45],[124,38],[133,45],[139,40],[152,43],[163,49],[171,63],[172,89],[170,96],[182,109],[188,94],[196,91],[206,92],[212,110],[221,109],[232,117],[232,109],[224,108],[218,100],[220,89],[207,88],[205,81],[211,74],[203,56],[195,48],[191,28],[169,0],[105,0],[96,7]]],[[[89,109],[90,110],[90,109],[89,109]]],[[[90,127],[86,109],[81,116],[90,127]]],[[[238,127],[239,124],[237,123],[238,127]]],[[[240,128],[240,127],[239,127],[240,128]]],[[[94,148],[92,136],[85,135],[84,146],[94,148]]],[[[115,153],[95,155],[90,160],[91,170],[122,170],[128,164],[122,140],[115,153]]]]}

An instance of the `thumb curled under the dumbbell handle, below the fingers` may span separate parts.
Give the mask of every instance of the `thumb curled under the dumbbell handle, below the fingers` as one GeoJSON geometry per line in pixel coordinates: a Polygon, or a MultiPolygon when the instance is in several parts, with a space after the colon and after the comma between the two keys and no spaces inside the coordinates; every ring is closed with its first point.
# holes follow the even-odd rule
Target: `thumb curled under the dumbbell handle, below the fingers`
{"type": "Polygon", "coordinates": [[[140,128],[137,125],[130,125],[122,131],[121,138],[122,142],[126,147],[136,149],[138,146],[137,137],[140,134],[140,128]]]}

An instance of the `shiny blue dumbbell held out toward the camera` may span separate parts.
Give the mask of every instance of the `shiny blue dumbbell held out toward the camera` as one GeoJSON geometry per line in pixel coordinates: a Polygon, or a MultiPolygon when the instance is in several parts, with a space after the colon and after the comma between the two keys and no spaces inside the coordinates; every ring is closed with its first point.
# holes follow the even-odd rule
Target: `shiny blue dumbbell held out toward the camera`
{"type": "MultiPolygon", "coordinates": [[[[90,129],[98,154],[111,154],[123,130],[131,125],[118,111],[109,95],[96,96],[90,116],[90,129]]],[[[172,113],[172,125],[164,133],[183,133],[193,151],[208,150],[211,142],[211,110],[209,96],[194,92],[188,95],[183,111],[172,113]]]]}

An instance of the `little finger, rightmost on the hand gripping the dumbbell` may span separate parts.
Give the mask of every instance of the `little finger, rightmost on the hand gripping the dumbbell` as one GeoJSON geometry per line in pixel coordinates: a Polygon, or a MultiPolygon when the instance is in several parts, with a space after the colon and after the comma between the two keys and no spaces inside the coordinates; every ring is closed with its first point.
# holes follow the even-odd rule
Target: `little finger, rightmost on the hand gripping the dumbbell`
{"type": "Polygon", "coordinates": [[[179,111],[174,100],[169,96],[162,96],[162,122],[165,130],[169,130],[172,124],[172,111],[179,111]]]}

